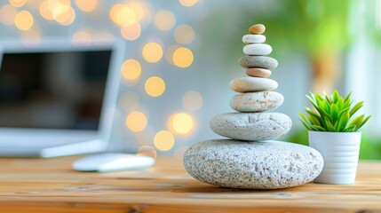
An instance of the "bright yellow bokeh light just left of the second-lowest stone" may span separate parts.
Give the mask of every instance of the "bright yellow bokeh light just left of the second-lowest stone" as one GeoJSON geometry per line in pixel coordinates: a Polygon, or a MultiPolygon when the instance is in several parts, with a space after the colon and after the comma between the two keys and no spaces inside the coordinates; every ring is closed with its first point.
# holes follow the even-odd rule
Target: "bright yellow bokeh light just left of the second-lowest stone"
{"type": "Polygon", "coordinates": [[[167,122],[168,128],[175,134],[184,135],[194,128],[194,119],[190,114],[172,114],[167,122]]]}

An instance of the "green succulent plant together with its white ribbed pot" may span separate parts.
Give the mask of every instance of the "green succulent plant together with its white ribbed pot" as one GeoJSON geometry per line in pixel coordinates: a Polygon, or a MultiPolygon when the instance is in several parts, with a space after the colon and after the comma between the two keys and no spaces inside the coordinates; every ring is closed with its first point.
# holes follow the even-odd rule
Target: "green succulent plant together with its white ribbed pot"
{"type": "Polygon", "coordinates": [[[308,142],[318,150],[324,167],[314,181],[326,184],[352,184],[356,177],[359,159],[360,128],[370,116],[353,117],[363,101],[353,106],[351,93],[345,98],[337,91],[331,96],[311,93],[306,96],[314,110],[306,107],[306,115],[299,113],[308,131],[308,142]]]}

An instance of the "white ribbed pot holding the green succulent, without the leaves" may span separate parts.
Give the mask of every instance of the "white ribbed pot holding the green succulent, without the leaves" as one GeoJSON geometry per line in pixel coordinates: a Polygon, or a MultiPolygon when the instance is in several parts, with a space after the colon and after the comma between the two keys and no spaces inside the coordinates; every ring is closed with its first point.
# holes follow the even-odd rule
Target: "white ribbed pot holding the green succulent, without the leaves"
{"type": "Polygon", "coordinates": [[[309,131],[311,147],[324,160],[321,174],[314,182],[324,184],[353,184],[359,162],[361,132],[309,131]]]}

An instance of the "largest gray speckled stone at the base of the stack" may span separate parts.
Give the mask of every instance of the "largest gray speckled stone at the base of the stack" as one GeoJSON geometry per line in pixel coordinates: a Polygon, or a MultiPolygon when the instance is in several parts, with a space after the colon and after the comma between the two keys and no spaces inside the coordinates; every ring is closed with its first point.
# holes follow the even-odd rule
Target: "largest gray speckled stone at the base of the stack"
{"type": "Polygon", "coordinates": [[[187,172],[210,185],[278,189],[303,185],[323,167],[321,154],[309,146],[281,141],[203,141],[184,155],[187,172]]]}

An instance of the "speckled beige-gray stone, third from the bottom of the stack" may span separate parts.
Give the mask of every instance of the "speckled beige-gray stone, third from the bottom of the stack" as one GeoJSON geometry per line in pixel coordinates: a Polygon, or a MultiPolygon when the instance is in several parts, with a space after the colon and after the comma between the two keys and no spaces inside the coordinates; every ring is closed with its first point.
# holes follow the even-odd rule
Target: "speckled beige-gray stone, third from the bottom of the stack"
{"type": "Polygon", "coordinates": [[[230,107],[242,113],[258,113],[281,106],[283,100],[282,94],[276,91],[247,92],[234,95],[230,107]]]}

